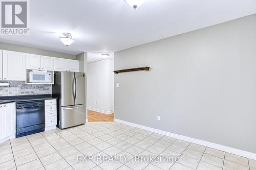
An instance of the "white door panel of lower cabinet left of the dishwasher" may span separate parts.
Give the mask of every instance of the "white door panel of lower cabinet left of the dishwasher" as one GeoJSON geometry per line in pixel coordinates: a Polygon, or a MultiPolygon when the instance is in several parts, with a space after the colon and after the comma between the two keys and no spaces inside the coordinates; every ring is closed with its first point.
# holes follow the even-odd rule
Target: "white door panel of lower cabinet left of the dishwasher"
{"type": "Polygon", "coordinates": [[[6,138],[15,133],[15,104],[7,103],[2,106],[2,138],[6,138]]]}

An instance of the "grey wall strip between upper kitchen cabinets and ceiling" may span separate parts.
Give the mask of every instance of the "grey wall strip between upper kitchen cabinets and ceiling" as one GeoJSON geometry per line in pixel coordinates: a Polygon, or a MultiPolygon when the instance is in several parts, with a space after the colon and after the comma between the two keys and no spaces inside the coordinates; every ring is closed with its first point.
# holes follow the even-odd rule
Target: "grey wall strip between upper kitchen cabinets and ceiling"
{"type": "Polygon", "coordinates": [[[15,44],[9,44],[0,42],[0,49],[1,50],[9,50],[9,51],[15,51],[15,52],[22,52],[22,53],[30,53],[30,54],[38,54],[42,56],[50,56],[50,57],[59,57],[59,58],[67,58],[67,59],[76,59],[75,55],[66,54],[66,53],[58,53],[48,50],[41,50],[39,48],[32,48],[27,47],[23,45],[15,45],[15,44]]]}

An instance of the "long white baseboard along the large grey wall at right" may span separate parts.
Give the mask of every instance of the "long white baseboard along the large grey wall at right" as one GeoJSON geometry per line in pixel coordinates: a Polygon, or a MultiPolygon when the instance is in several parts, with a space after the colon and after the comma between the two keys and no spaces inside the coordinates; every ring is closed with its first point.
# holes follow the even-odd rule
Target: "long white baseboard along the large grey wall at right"
{"type": "Polygon", "coordinates": [[[256,154],[255,153],[242,151],[242,150],[239,150],[239,149],[226,147],[226,146],[221,145],[221,144],[216,144],[216,143],[212,143],[212,142],[208,142],[208,141],[204,141],[204,140],[200,140],[200,139],[195,139],[195,138],[191,138],[191,137],[187,137],[187,136],[183,136],[183,135],[178,135],[178,134],[171,133],[171,132],[162,131],[162,130],[155,129],[155,128],[150,128],[150,127],[146,127],[146,126],[126,122],[124,120],[120,120],[120,119],[116,119],[116,118],[114,118],[114,122],[122,123],[122,124],[129,125],[129,126],[132,126],[132,127],[136,127],[136,128],[140,128],[140,129],[143,129],[143,130],[159,133],[159,134],[162,134],[162,135],[165,135],[165,136],[169,136],[169,137],[173,137],[173,138],[176,138],[176,139],[181,139],[181,140],[185,140],[185,141],[188,141],[188,142],[204,145],[205,147],[214,148],[214,149],[217,149],[217,150],[221,150],[221,151],[224,151],[224,152],[229,152],[231,154],[235,154],[235,155],[239,155],[239,156],[243,156],[243,157],[246,157],[246,158],[256,160],[256,154]]]}

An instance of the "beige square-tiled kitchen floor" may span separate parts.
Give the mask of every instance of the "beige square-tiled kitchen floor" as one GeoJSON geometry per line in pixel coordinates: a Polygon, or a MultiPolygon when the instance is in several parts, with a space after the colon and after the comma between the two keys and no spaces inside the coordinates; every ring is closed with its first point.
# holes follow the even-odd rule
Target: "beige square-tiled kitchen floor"
{"type": "Polygon", "coordinates": [[[115,122],[87,123],[0,144],[0,169],[171,169],[256,170],[256,160],[115,122]],[[77,156],[93,155],[77,162],[77,156]],[[112,161],[97,160],[97,155],[112,161]],[[178,162],[135,161],[135,155],[177,156],[178,162]],[[89,159],[87,159],[89,160],[89,159]]]}

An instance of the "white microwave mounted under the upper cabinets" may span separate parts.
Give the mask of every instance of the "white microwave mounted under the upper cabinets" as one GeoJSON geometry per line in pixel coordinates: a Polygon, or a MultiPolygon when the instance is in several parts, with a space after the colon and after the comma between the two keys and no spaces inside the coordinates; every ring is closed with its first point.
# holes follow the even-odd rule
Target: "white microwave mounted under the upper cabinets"
{"type": "Polygon", "coordinates": [[[28,72],[29,83],[51,83],[52,73],[51,72],[28,72]]]}

